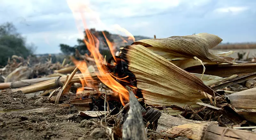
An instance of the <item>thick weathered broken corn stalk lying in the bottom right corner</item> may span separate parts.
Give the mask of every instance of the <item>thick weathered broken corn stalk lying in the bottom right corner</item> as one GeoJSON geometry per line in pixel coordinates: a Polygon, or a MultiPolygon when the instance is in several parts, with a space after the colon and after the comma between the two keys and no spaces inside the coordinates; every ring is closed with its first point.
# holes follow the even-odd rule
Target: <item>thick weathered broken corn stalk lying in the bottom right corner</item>
{"type": "Polygon", "coordinates": [[[176,136],[186,136],[193,140],[249,140],[256,136],[256,133],[251,131],[223,128],[217,124],[218,122],[192,121],[162,114],[158,120],[156,135],[163,137],[162,133],[175,134],[176,136]]]}

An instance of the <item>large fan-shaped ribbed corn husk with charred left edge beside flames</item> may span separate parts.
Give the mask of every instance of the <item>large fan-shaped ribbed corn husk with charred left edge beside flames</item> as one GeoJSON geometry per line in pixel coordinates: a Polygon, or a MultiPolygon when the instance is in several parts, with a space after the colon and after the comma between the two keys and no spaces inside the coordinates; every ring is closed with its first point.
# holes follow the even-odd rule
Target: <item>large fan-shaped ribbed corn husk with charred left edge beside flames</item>
{"type": "Polygon", "coordinates": [[[204,98],[199,90],[211,95],[214,93],[195,75],[142,45],[126,46],[121,58],[128,63],[128,70],[135,75],[139,89],[184,100],[204,98]]]}

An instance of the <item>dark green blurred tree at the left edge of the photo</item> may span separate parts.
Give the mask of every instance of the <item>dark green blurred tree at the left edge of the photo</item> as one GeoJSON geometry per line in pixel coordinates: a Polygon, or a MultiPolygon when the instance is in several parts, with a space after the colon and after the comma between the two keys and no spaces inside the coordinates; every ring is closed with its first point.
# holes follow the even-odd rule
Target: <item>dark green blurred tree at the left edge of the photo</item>
{"type": "Polygon", "coordinates": [[[17,32],[16,27],[6,22],[0,25],[0,49],[0,65],[3,66],[12,55],[26,58],[34,53],[36,47],[34,44],[26,44],[26,39],[17,32]]]}

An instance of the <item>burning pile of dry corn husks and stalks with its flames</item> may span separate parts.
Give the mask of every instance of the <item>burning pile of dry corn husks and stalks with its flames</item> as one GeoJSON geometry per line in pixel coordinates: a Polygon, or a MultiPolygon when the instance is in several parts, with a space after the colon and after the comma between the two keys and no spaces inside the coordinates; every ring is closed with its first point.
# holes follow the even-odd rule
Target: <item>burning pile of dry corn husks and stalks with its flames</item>
{"type": "Polygon", "coordinates": [[[109,139],[256,136],[251,132],[256,123],[256,63],[238,64],[228,57],[233,51],[211,50],[220,37],[200,33],[134,40],[118,52],[103,32],[112,54],[106,60],[100,41],[86,28],[83,12],[81,17],[90,55],[76,52],[84,60],[71,58],[75,66],[70,75],[12,81],[2,89],[45,91],[41,96],[48,95],[49,102],[74,105],[80,116],[104,116],[97,125],[109,139]],[[244,128],[250,131],[237,130],[244,128]]]}

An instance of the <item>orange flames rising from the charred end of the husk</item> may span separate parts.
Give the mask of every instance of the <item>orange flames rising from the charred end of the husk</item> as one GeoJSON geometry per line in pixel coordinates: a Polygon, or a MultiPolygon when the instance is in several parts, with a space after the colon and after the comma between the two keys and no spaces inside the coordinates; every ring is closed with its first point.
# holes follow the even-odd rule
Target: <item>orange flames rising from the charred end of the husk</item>
{"type": "MultiPolygon", "coordinates": [[[[71,2],[71,1],[70,1],[71,2]]],[[[107,67],[104,65],[104,58],[103,56],[100,54],[100,51],[99,51],[99,40],[97,37],[95,37],[91,32],[90,30],[87,28],[86,26],[86,20],[85,20],[85,15],[84,15],[84,12],[83,10],[86,10],[86,11],[89,11],[90,13],[92,12],[92,10],[90,8],[88,8],[87,4],[82,4],[81,1],[80,3],[70,3],[68,2],[68,6],[69,8],[71,9],[71,11],[73,12],[74,16],[77,17],[77,13],[79,13],[79,19],[82,20],[82,23],[83,23],[83,27],[85,29],[85,33],[86,33],[86,36],[87,36],[87,39],[84,39],[84,43],[86,44],[87,46],[87,49],[91,52],[91,55],[92,57],[94,58],[95,60],[95,63],[96,63],[96,66],[99,70],[99,73],[96,73],[97,77],[100,79],[101,82],[103,82],[106,86],[108,86],[109,88],[111,88],[113,91],[116,91],[117,93],[119,93],[119,97],[120,97],[120,100],[122,102],[122,104],[124,105],[123,103],[123,97],[126,99],[126,100],[129,100],[129,92],[119,83],[117,82],[113,77],[112,74],[108,73],[108,69],[107,67]],[[78,10],[78,11],[76,11],[78,10]]],[[[99,18],[97,17],[93,17],[96,21],[100,21],[99,18]]],[[[124,28],[122,27],[117,27],[119,30],[121,31],[124,31],[125,34],[127,34],[132,40],[135,41],[135,38],[132,36],[131,33],[129,33],[127,30],[125,30],[124,28]]],[[[107,41],[107,44],[108,44],[108,47],[109,47],[109,50],[113,56],[113,58],[116,60],[116,57],[115,57],[115,48],[114,48],[114,45],[113,43],[111,43],[108,38],[106,37],[106,35],[104,34],[103,32],[103,35],[107,41]]],[[[88,70],[87,70],[87,65],[85,62],[80,62],[78,63],[78,61],[74,61],[75,65],[79,68],[79,70],[83,73],[83,76],[84,76],[84,79],[92,79],[92,77],[85,77],[86,75],[88,75],[88,70]]],[[[117,78],[117,77],[115,77],[117,78]]],[[[124,77],[124,78],[117,78],[117,79],[125,79],[127,77],[124,77]]],[[[77,89],[77,91],[81,91],[83,90],[84,86],[92,86],[92,84],[90,83],[86,83],[86,81],[82,81],[82,79],[80,79],[81,82],[82,82],[82,88],[80,89],[77,89]]],[[[93,81],[93,80],[92,80],[93,81]]]]}

